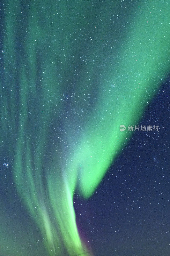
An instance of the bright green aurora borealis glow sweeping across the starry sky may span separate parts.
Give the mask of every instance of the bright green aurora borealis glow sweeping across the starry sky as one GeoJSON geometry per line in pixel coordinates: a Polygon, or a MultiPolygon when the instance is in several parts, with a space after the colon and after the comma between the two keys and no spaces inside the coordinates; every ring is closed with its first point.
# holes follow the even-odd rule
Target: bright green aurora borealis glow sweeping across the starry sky
{"type": "Polygon", "coordinates": [[[92,197],[132,136],[120,125],[138,124],[167,79],[169,4],[1,3],[0,151],[11,185],[0,201],[0,255],[95,255],[73,198],[92,197]],[[14,212],[29,216],[11,220],[16,240],[10,191],[14,212]],[[25,231],[31,220],[40,242],[25,231]]]}

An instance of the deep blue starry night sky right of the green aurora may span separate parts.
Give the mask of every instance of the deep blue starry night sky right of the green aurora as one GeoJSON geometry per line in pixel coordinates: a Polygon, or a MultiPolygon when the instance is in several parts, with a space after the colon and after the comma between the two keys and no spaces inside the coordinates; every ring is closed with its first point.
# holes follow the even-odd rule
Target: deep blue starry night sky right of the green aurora
{"type": "Polygon", "coordinates": [[[75,198],[77,222],[96,255],[169,255],[169,85],[139,123],[159,125],[159,132],[135,131],[92,198],[75,198]]]}

